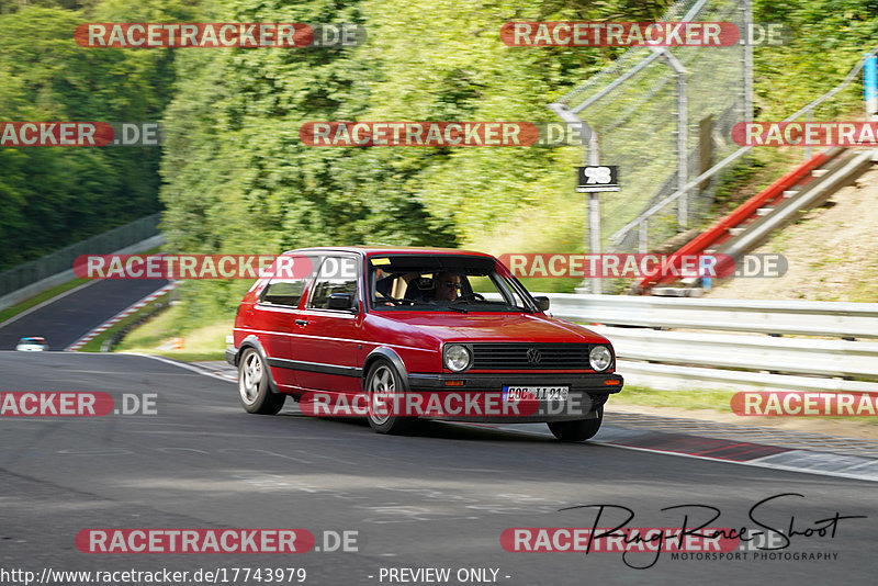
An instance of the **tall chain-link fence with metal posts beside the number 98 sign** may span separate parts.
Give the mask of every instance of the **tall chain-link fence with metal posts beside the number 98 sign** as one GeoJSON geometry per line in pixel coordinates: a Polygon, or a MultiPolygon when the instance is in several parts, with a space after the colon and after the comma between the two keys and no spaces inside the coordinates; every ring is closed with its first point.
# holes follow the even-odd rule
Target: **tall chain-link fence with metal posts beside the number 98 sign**
{"type": "MultiPolygon", "coordinates": [[[[751,0],[683,0],[662,21],[730,22],[743,38],[751,0]]],[[[621,191],[600,200],[603,251],[653,249],[709,212],[722,173],[621,230],[740,148],[731,131],[752,120],[751,50],[742,43],[632,48],[558,100],[597,133],[600,164],[619,167],[621,191]]]]}

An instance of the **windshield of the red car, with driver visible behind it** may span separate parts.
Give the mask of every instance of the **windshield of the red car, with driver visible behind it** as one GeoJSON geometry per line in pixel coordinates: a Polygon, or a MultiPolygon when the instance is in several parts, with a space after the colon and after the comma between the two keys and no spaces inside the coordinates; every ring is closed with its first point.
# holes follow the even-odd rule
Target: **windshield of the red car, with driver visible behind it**
{"type": "Polygon", "coordinates": [[[494,259],[464,255],[387,255],[369,259],[370,306],[376,311],[528,312],[533,301],[494,259]]]}

